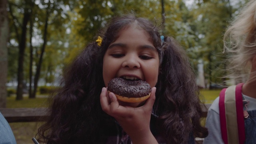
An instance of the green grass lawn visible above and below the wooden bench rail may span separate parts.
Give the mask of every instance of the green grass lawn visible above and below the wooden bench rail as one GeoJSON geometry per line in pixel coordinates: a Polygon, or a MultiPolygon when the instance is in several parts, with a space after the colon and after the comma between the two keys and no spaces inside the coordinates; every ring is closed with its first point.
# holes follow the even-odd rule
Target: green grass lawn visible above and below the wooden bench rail
{"type": "MultiPolygon", "coordinates": [[[[211,104],[220,94],[220,90],[201,90],[203,101],[211,104]]],[[[7,98],[7,108],[38,108],[46,107],[47,98],[29,99],[27,96],[23,100],[15,100],[15,96],[7,98]]],[[[203,122],[204,123],[204,120],[203,122]]],[[[36,135],[40,124],[36,122],[14,122],[9,123],[17,144],[33,144],[32,138],[36,135]]]]}

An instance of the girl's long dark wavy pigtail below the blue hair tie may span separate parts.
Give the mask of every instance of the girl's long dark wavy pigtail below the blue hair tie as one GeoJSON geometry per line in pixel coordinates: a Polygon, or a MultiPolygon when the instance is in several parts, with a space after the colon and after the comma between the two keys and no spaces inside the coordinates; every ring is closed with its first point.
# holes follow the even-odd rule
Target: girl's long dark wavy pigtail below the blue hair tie
{"type": "Polygon", "coordinates": [[[171,37],[164,41],[157,85],[160,129],[164,130],[167,142],[186,144],[192,129],[196,136],[202,129],[198,125],[202,110],[196,77],[184,49],[171,37]]]}

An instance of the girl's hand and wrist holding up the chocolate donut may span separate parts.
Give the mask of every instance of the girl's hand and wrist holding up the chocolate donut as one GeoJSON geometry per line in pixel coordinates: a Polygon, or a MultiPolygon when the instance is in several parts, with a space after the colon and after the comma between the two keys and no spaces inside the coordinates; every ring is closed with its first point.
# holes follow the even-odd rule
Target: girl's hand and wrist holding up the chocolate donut
{"type": "Polygon", "coordinates": [[[114,93],[108,94],[107,88],[102,88],[100,104],[102,110],[113,116],[130,136],[133,144],[158,144],[150,131],[150,117],[156,99],[156,88],[152,88],[151,96],[143,106],[134,108],[121,106],[114,93]]]}

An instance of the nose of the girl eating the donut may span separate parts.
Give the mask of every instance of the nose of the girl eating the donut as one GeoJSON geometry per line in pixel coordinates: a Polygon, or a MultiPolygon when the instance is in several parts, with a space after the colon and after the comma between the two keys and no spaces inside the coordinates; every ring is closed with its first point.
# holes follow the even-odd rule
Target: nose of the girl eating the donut
{"type": "Polygon", "coordinates": [[[122,63],[123,68],[140,68],[140,62],[136,56],[126,56],[122,63]]]}

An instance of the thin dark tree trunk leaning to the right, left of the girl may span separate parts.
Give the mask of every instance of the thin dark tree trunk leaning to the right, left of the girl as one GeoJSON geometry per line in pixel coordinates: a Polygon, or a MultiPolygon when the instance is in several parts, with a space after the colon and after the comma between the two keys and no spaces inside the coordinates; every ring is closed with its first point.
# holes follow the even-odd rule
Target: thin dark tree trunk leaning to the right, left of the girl
{"type": "Polygon", "coordinates": [[[46,43],[47,43],[46,36],[47,36],[48,18],[49,18],[49,10],[47,10],[47,12],[46,12],[46,20],[45,20],[45,25],[44,25],[44,37],[43,37],[44,43],[41,48],[41,54],[40,54],[38,65],[36,66],[36,75],[34,78],[34,92],[33,92],[33,95],[31,96],[31,98],[36,98],[36,90],[37,90],[37,86],[38,86],[38,80],[40,78],[40,70],[41,70],[41,66],[42,66],[42,62],[43,62],[44,50],[45,50],[46,43]]]}

